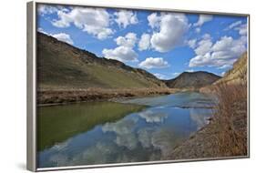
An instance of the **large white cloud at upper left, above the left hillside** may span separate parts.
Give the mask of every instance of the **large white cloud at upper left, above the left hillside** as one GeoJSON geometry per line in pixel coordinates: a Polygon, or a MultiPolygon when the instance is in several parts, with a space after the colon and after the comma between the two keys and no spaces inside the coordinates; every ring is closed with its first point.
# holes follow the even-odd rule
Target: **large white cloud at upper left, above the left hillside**
{"type": "Polygon", "coordinates": [[[114,31],[109,27],[110,16],[102,8],[74,7],[70,11],[57,11],[58,19],[52,24],[56,27],[67,27],[72,23],[98,39],[105,39],[114,31]]]}

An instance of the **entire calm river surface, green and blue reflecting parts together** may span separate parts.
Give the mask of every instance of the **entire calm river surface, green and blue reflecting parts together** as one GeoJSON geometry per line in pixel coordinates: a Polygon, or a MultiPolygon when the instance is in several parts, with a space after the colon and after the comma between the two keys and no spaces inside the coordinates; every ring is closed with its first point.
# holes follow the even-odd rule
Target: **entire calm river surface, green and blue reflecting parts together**
{"type": "Polygon", "coordinates": [[[160,160],[208,123],[212,106],[212,97],[187,92],[120,103],[40,107],[38,166],[160,160]]]}

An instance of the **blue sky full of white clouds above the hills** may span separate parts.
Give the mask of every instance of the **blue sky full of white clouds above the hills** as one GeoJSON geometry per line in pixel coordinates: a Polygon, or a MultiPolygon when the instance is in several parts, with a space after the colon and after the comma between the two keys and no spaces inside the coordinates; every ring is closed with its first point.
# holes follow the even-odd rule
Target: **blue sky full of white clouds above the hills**
{"type": "Polygon", "coordinates": [[[37,31],[160,79],[222,76],[247,50],[247,17],[38,5],[37,31]]]}

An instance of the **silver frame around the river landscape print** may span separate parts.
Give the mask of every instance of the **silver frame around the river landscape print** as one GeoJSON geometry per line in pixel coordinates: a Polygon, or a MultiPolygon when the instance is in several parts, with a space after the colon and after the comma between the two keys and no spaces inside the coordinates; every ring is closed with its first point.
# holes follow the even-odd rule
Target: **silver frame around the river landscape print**
{"type": "Polygon", "coordinates": [[[141,6],[119,6],[119,5],[90,5],[87,3],[73,4],[73,3],[54,3],[51,1],[32,1],[26,5],[26,37],[27,37],[27,107],[26,107],[26,168],[30,171],[47,171],[47,170],[64,170],[64,169],[77,169],[77,168],[106,168],[106,167],[123,167],[134,165],[148,165],[148,164],[166,164],[176,162],[191,162],[191,161],[206,161],[206,160],[220,160],[231,158],[250,158],[250,15],[249,14],[234,14],[223,12],[206,12],[206,11],[190,11],[190,10],[178,10],[171,8],[151,8],[141,6]],[[115,163],[115,164],[103,164],[103,165],[89,165],[89,166],[72,166],[72,167],[57,167],[57,168],[38,168],[36,163],[36,6],[44,5],[76,5],[87,7],[104,7],[104,8],[118,8],[118,9],[134,9],[134,10],[154,10],[154,11],[166,11],[166,12],[181,12],[189,14],[206,14],[206,15],[238,15],[246,16],[248,23],[248,155],[240,157],[225,157],[225,158],[196,158],[196,159],[179,159],[179,160],[161,160],[161,161],[146,161],[146,162],[130,162],[130,163],[115,163]]]}

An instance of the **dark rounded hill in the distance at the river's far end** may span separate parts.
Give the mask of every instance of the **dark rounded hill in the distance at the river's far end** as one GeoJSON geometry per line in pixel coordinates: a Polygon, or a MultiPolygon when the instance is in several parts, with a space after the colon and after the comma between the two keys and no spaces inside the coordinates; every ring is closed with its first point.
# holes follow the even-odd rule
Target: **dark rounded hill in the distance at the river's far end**
{"type": "Polygon", "coordinates": [[[209,72],[198,71],[198,72],[183,72],[179,76],[164,80],[167,86],[174,88],[185,88],[185,87],[201,87],[207,86],[220,79],[220,76],[214,75],[209,72]]]}

